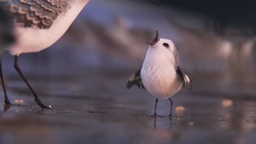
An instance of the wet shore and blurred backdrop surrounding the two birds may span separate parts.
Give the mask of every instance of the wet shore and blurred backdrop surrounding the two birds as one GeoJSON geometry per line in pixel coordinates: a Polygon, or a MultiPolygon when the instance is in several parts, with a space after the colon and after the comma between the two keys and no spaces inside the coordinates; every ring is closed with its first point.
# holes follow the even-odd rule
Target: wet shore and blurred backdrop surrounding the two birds
{"type": "MultiPolygon", "coordinates": [[[[42,131],[34,134],[36,138],[40,139],[37,134],[46,133],[56,136],[46,135],[47,139],[40,139],[42,143],[68,143],[73,138],[78,143],[83,140],[254,143],[256,20],[253,4],[91,0],[50,49],[20,55],[20,67],[31,85],[44,103],[58,110],[47,113],[34,107],[11,108],[14,114],[25,115],[3,115],[0,119],[3,123],[20,124],[14,128],[10,123],[2,125],[3,131],[18,129],[19,133],[27,125],[32,128],[41,125],[42,131]],[[146,42],[152,41],[156,30],[161,38],[174,42],[180,66],[193,81],[193,90],[182,90],[172,97],[175,108],[172,122],[164,117],[169,114],[169,101],[158,104],[160,117],[154,125],[150,116],[155,99],[136,88],[125,90],[125,85],[131,74],[141,68],[148,49],[146,42]],[[30,120],[22,126],[28,116],[30,120]],[[196,139],[198,135],[202,138],[196,139]]],[[[13,62],[11,55],[3,58],[9,98],[22,99],[27,105],[37,107],[13,62]]],[[[0,100],[3,102],[3,97],[0,100]]],[[[7,133],[7,136],[0,140],[16,142],[12,138],[17,135],[7,133]]],[[[28,136],[18,136],[19,140],[23,137],[28,136]]]]}

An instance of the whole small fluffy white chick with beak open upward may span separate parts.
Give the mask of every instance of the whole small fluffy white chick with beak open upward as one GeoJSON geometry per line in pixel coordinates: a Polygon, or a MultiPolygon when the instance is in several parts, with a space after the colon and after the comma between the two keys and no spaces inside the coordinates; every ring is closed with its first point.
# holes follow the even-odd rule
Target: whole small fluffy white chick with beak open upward
{"type": "Polygon", "coordinates": [[[137,70],[126,84],[126,89],[137,85],[141,89],[147,90],[156,97],[155,113],[158,98],[169,99],[179,92],[181,87],[191,89],[191,80],[185,70],[179,66],[179,54],[169,39],[159,38],[156,31],[156,37],[153,42],[149,43],[145,61],[141,69],[137,70]]]}

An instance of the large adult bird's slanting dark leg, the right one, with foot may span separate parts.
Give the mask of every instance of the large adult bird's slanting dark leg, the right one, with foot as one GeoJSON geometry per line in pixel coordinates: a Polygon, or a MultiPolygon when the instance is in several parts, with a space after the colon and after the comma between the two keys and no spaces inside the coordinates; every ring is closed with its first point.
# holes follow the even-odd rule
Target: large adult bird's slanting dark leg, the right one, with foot
{"type": "Polygon", "coordinates": [[[30,86],[30,84],[28,83],[27,79],[25,78],[25,76],[23,75],[19,65],[18,65],[18,55],[15,55],[15,60],[14,60],[14,68],[17,70],[17,72],[20,74],[21,78],[23,79],[23,81],[27,84],[27,86],[29,87],[30,91],[34,94],[35,97],[35,101],[36,103],[43,109],[50,109],[49,107],[46,107],[41,101],[40,99],[37,97],[35,91],[32,89],[32,87],[30,86]]]}

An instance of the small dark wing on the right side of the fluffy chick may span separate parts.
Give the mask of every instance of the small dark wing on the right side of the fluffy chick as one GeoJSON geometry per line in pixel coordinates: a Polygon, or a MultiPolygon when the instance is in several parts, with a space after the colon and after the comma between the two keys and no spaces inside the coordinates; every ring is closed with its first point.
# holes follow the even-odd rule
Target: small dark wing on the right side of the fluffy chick
{"type": "Polygon", "coordinates": [[[181,78],[181,82],[183,83],[183,88],[185,89],[189,89],[191,90],[192,89],[192,81],[191,79],[188,77],[188,74],[187,72],[182,69],[180,66],[176,67],[176,71],[177,71],[177,74],[180,76],[181,78]]]}

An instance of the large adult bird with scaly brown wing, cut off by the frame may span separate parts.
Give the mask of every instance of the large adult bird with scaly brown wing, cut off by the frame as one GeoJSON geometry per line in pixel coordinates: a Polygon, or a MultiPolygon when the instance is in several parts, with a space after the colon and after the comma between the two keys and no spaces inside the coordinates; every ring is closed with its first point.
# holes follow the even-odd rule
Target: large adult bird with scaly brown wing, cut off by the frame
{"type": "MultiPolygon", "coordinates": [[[[34,94],[36,103],[43,109],[45,106],[32,89],[19,65],[18,57],[21,53],[38,52],[55,43],[68,29],[77,15],[90,0],[8,0],[0,1],[6,13],[10,14],[13,22],[15,42],[6,47],[6,52],[15,56],[14,68],[34,94]]],[[[1,55],[0,53],[0,60],[1,55]]],[[[1,61],[0,61],[1,62],[1,61]]],[[[5,86],[2,68],[0,76],[4,89],[4,102],[11,105],[5,86]]]]}

